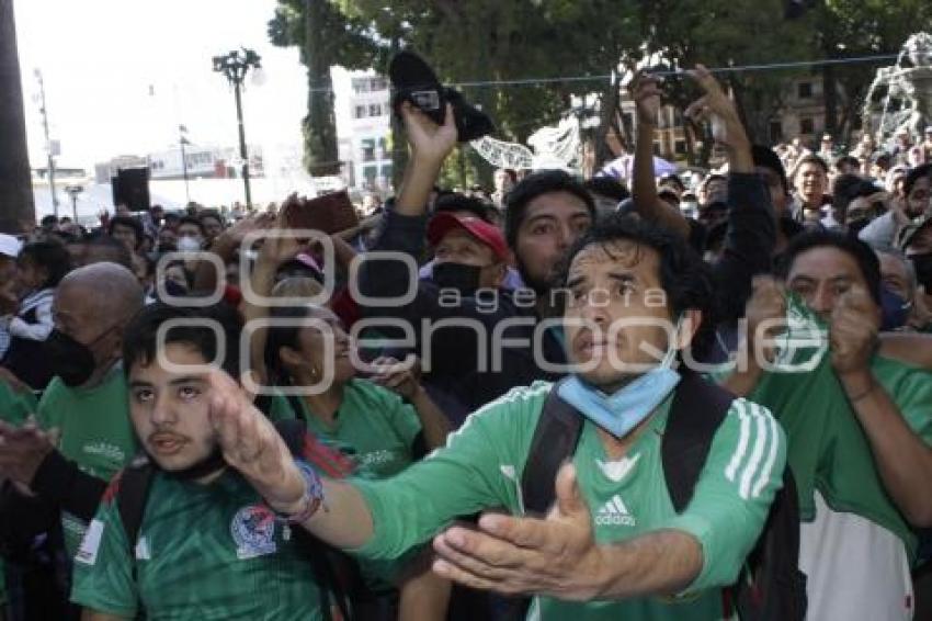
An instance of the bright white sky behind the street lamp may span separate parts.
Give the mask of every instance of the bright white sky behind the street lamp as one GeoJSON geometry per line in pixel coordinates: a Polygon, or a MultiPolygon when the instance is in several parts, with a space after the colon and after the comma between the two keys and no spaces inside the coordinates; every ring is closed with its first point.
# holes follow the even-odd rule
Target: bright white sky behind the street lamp
{"type": "Polygon", "coordinates": [[[237,145],[236,106],[212,58],[246,46],[262,57],[264,83],[247,77],[247,142],[300,143],[307,78],[296,48],[269,42],[275,0],[14,0],[30,160],[45,162],[35,69],[45,81],[59,167],[178,144],[237,145]]]}

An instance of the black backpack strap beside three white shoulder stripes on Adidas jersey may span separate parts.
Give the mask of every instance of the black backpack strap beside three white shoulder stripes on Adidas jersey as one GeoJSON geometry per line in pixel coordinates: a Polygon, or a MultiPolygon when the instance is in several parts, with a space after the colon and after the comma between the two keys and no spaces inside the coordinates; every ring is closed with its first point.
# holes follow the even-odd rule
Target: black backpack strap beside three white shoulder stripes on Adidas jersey
{"type": "Polygon", "coordinates": [[[725,388],[693,372],[682,373],[660,447],[667,489],[678,513],[693,497],[712,440],[734,400],[725,388]]]}

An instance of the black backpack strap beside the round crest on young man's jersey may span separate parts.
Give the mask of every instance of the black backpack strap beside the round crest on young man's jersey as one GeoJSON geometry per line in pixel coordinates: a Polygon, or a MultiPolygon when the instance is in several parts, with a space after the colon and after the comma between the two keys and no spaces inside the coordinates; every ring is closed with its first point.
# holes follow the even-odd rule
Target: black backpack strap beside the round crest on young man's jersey
{"type": "MultiPolygon", "coordinates": [[[[293,397],[289,396],[288,399],[291,398],[293,397]]],[[[299,410],[295,414],[298,415],[299,410]]],[[[296,459],[304,459],[304,439],[307,433],[306,424],[296,418],[279,420],[275,422],[275,429],[279,431],[279,436],[282,437],[285,445],[292,452],[292,455],[296,459]]],[[[302,547],[304,547],[306,552],[305,555],[310,561],[314,569],[314,577],[318,586],[318,595],[321,602],[320,612],[323,616],[325,621],[330,621],[330,619],[332,619],[330,607],[327,605],[327,602],[330,601],[330,594],[333,594],[333,598],[337,600],[337,607],[340,609],[340,616],[344,620],[349,621],[352,619],[349,607],[346,606],[346,595],[350,589],[343,584],[345,578],[341,579],[338,571],[333,567],[334,563],[343,563],[343,557],[334,558],[337,554],[342,555],[342,553],[334,551],[300,526],[295,524],[292,528],[295,534],[295,540],[302,547]]],[[[352,562],[348,556],[345,560],[346,562],[352,562]]],[[[345,573],[346,572],[342,572],[342,574],[345,573]]]]}

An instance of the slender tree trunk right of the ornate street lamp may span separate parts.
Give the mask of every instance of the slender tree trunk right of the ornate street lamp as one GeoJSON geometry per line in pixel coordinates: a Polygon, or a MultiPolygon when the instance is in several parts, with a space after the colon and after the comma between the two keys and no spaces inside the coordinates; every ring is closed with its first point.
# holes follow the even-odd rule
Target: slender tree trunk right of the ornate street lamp
{"type": "Polygon", "coordinates": [[[330,10],[327,0],[306,0],[305,59],[310,89],[307,93],[307,116],[304,118],[305,168],[311,177],[340,173],[337,155],[337,118],[333,115],[333,92],[330,80],[330,54],[323,12],[330,10]]]}

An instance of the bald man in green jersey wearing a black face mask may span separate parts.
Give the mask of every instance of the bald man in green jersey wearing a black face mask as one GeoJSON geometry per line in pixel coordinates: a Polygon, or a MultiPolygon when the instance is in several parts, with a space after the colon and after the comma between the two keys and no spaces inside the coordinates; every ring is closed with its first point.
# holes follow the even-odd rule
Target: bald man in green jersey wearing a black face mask
{"type": "Polygon", "coordinates": [[[65,276],[44,350],[55,379],[38,403],[37,425],[0,428],[0,473],[60,510],[70,553],[106,482],[136,452],[120,347],[141,305],[138,281],[122,266],[93,263],[65,276]]]}

